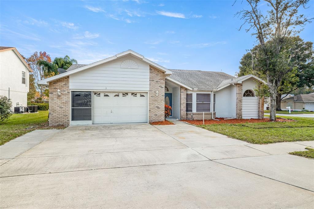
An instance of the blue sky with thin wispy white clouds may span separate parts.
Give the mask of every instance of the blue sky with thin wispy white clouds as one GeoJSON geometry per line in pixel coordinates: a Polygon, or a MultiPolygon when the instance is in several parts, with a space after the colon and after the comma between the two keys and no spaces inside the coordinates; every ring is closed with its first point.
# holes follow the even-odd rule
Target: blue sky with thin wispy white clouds
{"type": "MultiPolygon", "coordinates": [[[[169,69],[234,75],[256,44],[242,20],[241,1],[1,1],[1,46],[24,56],[46,51],[89,64],[132,49],[169,69]]],[[[313,16],[310,8],[300,11],[313,16]]],[[[267,8],[267,5],[262,5],[267,8]]],[[[300,37],[314,41],[314,23],[300,37]]]]}

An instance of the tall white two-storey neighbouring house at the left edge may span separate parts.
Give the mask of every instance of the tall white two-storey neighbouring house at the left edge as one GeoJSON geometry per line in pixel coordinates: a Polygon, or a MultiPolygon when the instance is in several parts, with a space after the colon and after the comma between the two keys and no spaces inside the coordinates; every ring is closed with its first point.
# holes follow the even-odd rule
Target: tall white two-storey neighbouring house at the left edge
{"type": "Polygon", "coordinates": [[[29,72],[32,72],[15,47],[0,46],[0,95],[12,101],[12,108],[27,106],[29,72]]]}

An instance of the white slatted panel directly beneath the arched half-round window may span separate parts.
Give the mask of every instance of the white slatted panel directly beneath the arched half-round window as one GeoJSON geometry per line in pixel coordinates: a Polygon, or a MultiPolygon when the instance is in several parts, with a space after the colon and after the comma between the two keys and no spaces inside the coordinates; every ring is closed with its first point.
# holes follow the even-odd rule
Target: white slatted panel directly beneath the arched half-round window
{"type": "Polygon", "coordinates": [[[242,97],[242,118],[258,118],[257,97],[242,97]]]}

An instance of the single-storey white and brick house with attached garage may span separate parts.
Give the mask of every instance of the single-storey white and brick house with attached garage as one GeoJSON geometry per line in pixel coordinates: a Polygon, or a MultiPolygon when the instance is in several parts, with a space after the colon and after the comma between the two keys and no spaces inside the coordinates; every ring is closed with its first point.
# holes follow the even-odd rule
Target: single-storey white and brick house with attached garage
{"type": "Polygon", "coordinates": [[[164,105],[178,119],[263,118],[253,75],[172,70],[128,50],[43,79],[49,86],[49,124],[164,121],[164,105]]]}

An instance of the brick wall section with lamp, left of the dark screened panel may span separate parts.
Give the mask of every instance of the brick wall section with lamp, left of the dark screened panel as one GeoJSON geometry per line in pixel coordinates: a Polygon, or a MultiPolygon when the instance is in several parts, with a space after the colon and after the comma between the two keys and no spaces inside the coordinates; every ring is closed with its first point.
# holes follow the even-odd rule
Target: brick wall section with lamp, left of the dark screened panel
{"type": "Polygon", "coordinates": [[[70,125],[69,77],[49,83],[49,126],[70,125]],[[57,91],[60,89],[61,95],[57,91]]]}

